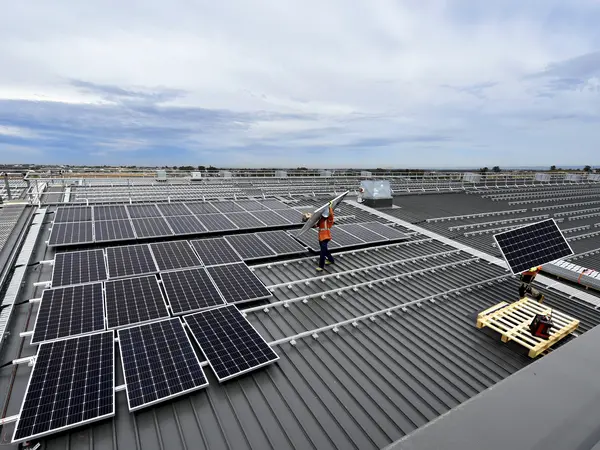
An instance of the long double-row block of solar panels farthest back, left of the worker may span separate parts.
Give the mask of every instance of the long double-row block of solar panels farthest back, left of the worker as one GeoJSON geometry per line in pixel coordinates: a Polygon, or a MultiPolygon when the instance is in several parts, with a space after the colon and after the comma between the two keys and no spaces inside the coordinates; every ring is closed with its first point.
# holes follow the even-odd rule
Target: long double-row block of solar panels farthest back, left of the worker
{"type": "Polygon", "coordinates": [[[49,246],[290,227],[301,213],[278,200],[61,206],[49,246]]]}

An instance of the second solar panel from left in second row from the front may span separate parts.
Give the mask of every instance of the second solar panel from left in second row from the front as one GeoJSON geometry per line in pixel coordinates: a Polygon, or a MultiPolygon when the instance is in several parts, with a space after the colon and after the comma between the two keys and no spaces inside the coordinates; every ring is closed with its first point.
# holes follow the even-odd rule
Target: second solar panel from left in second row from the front
{"type": "Polygon", "coordinates": [[[108,328],[119,328],[169,317],[160,286],[154,275],[107,281],[105,291],[108,328]]]}

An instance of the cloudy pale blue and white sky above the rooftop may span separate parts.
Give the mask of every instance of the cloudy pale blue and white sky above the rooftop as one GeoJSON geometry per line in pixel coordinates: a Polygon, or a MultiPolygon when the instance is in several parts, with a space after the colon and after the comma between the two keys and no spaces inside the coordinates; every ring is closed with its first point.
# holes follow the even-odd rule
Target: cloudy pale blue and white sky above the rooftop
{"type": "Polygon", "coordinates": [[[0,161],[600,165],[600,0],[20,0],[0,161]]]}

